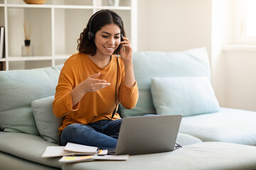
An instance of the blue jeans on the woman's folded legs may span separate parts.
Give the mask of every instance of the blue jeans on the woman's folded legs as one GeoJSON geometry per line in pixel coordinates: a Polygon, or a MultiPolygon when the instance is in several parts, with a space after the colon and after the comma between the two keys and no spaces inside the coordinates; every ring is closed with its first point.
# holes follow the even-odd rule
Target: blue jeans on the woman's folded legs
{"type": "Polygon", "coordinates": [[[99,147],[100,149],[114,149],[117,146],[122,119],[100,120],[87,125],[68,125],[60,134],[60,145],[68,142],[99,147]]]}

